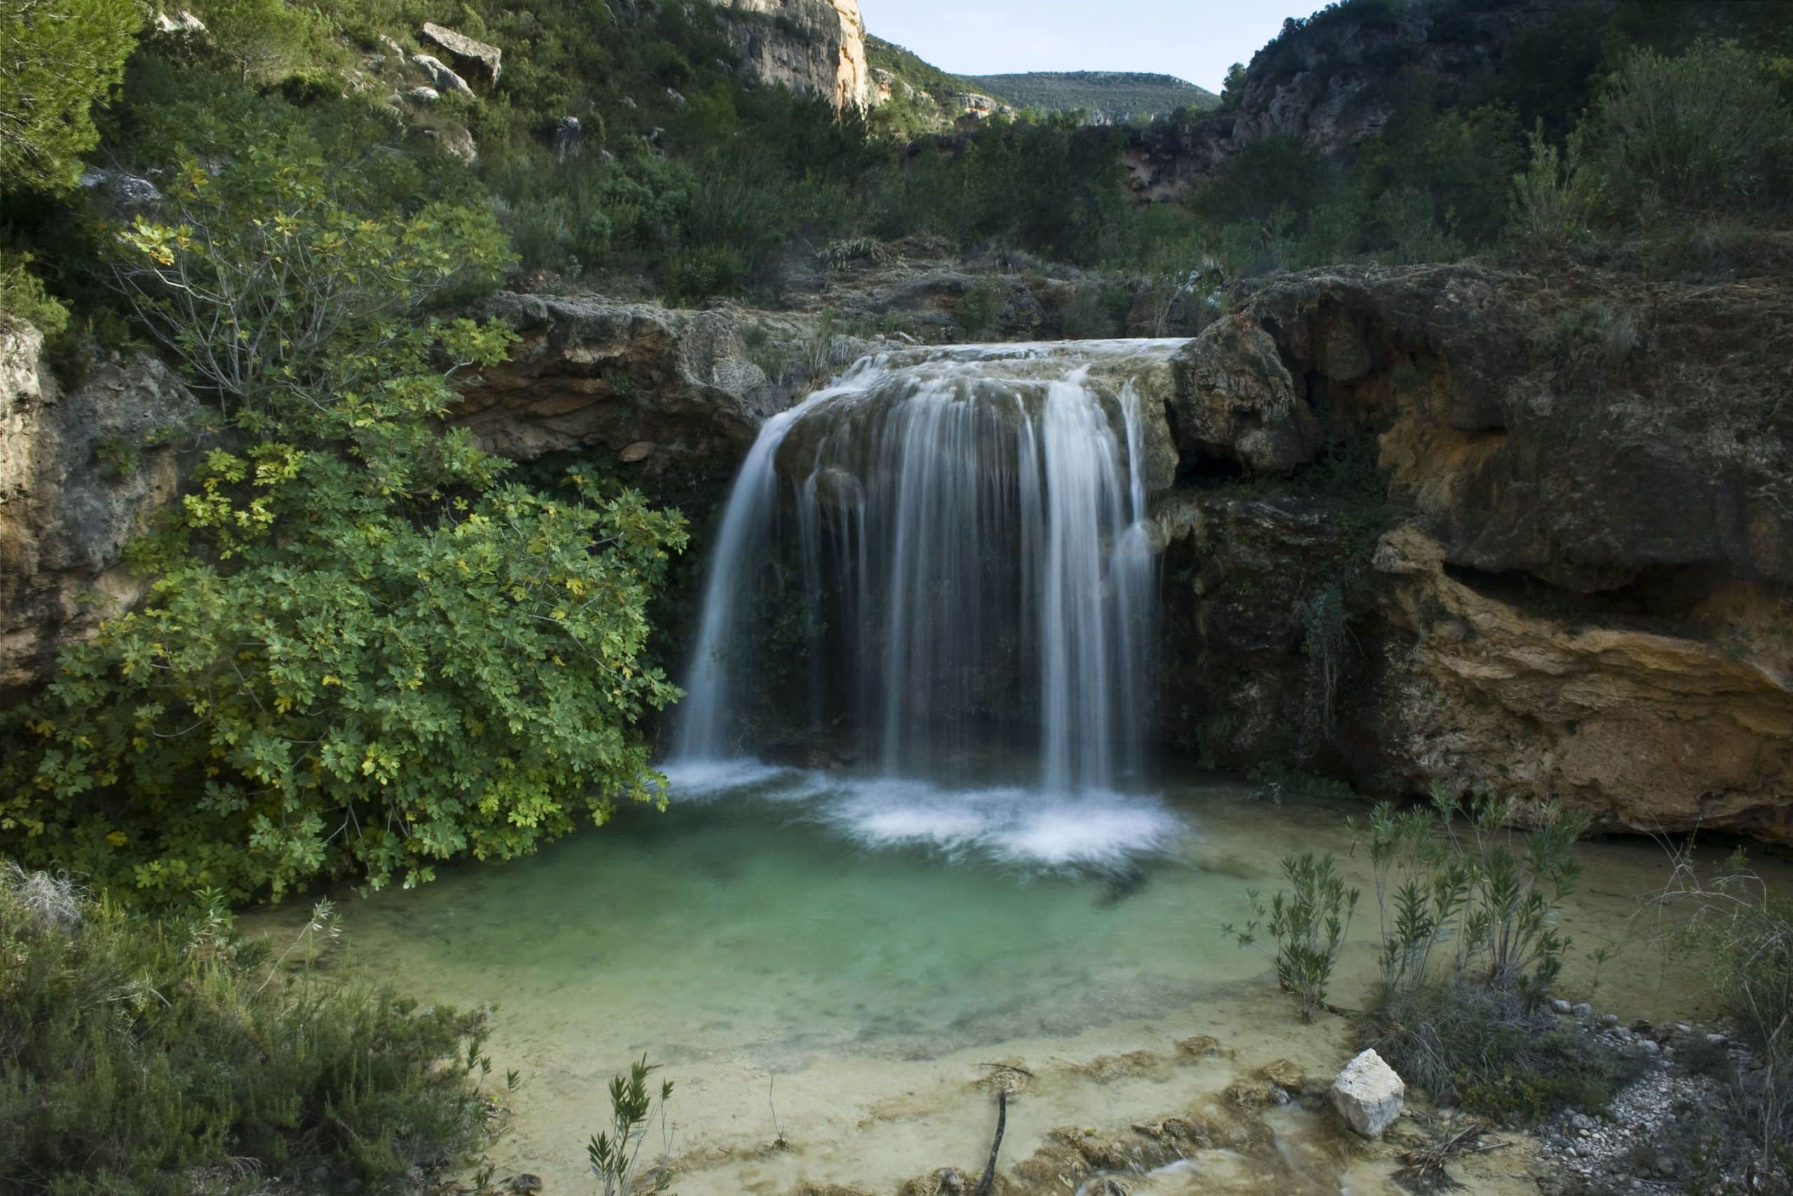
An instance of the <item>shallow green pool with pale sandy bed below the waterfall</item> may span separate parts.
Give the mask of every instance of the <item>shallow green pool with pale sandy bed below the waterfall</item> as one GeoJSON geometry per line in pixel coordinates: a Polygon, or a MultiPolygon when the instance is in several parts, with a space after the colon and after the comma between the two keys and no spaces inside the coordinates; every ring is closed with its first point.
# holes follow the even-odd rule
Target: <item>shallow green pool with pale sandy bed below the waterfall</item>
{"type": "MultiPolygon", "coordinates": [[[[1277,888],[1284,854],[1348,852],[1350,812],[1252,802],[1201,775],[1042,798],[1000,778],[952,791],[735,766],[676,775],[665,812],[628,810],[533,859],[350,898],[344,950],[418,997],[498,1006],[495,1074],[524,1074],[500,1174],[583,1191],[604,1083],[647,1053],[678,1085],[667,1128],[685,1196],[803,1180],[895,1191],[981,1167],[992,1062],[1036,1078],[1006,1162],[1054,1126],[1164,1117],[1275,1058],[1330,1074],[1352,1045],[1345,1018],[1298,1024],[1269,961],[1223,927],[1248,888],[1277,888]],[[1230,1054],[1180,1058],[1191,1035],[1230,1054]],[[1146,1054],[1099,1062],[1131,1053],[1146,1054]],[[780,1131],[791,1149],[769,1146],[780,1131]]],[[[1589,963],[1592,947],[1642,936],[1635,895],[1662,882],[1660,848],[1580,850],[1567,993],[1624,1017],[1696,1011],[1689,977],[1653,947],[1633,941],[1598,975],[1589,963]]],[[[1366,862],[1345,870],[1366,895],[1330,999],[1356,1006],[1375,909],[1366,862]]],[[[294,916],[253,925],[287,932],[294,916]]],[[[1302,1146],[1323,1133],[1287,1117],[1262,1158],[1191,1160],[1137,1191],[1194,1191],[1200,1176],[1200,1191],[1381,1191],[1348,1151],[1302,1146]],[[1298,1158],[1305,1171],[1289,1169],[1298,1158]]]]}

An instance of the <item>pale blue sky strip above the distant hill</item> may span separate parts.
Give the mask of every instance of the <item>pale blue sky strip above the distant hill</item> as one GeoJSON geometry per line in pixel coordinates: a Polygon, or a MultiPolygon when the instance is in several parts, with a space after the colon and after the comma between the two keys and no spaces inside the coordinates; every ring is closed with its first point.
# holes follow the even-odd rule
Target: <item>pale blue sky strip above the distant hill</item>
{"type": "Polygon", "coordinates": [[[866,30],[956,75],[1149,70],[1219,93],[1226,68],[1323,0],[859,0],[866,30]]]}

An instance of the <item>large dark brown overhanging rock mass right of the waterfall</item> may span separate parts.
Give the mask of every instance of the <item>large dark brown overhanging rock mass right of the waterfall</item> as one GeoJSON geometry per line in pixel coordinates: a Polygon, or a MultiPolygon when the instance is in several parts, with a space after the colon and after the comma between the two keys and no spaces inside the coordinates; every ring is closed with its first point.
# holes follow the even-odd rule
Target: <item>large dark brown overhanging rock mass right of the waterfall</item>
{"type": "Polygon", "coordinates": [[[1793,841],[1789,328],[1780,278],[1273,278],[1162,411],[1173,737],[1793,841]]]}

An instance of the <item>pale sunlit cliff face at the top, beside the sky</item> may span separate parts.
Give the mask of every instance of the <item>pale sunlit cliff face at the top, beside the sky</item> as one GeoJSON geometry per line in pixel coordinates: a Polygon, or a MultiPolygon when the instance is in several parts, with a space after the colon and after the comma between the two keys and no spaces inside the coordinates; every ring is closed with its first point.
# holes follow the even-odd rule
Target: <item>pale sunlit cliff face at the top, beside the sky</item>
{"type": "Polygon", "coordinates": [[[859,0],[723,0],[728,38],[762,82],[821,95],[836,109],[877,100],[859,0]]]}

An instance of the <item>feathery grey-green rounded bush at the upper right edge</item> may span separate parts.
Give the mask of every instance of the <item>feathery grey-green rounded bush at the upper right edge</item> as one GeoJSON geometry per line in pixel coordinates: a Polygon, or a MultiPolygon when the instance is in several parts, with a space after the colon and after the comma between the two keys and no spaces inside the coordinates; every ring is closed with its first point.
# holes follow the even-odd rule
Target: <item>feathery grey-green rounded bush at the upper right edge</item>
{"type": "Polygon", "coordinates": [[[1702,41],[1676,57],[1633,52],[1607,79],[1585,127],[1630,212],[1750,206],[1784,188],[1793,165],[1793,108],[1736,43],[1702,41]]]}

